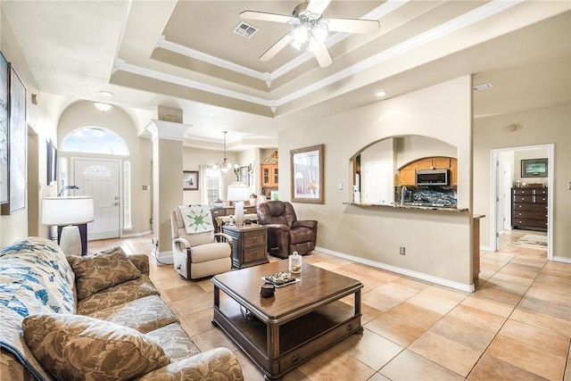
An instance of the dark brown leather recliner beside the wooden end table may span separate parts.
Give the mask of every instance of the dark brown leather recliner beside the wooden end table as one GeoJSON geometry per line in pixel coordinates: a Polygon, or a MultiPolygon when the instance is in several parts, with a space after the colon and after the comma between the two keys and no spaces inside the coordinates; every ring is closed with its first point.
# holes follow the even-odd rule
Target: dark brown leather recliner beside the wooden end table
{"type": "Polygon", "coordinates": [[[268,251],[279,258],[291,253],[309,254],[318,238],[318,221],[298,220],[294,206],[283,201],[260,203],[256,207],[258,223],[268,227],[268,251]]]}

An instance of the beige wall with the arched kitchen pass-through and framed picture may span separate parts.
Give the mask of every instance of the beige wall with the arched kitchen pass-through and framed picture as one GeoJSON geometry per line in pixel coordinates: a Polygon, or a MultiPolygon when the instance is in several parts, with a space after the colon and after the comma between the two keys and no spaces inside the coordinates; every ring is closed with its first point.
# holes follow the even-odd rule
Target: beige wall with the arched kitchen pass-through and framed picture
{"type": "Polygon", "coordinates": [[[459,207],[471,209],[472,83],[454,79],[378,104],[312,120],[279,134],[279,192],[291,199],[289,152],[325,145],[325,204],[294,203],[299,219],[318,219],[318,246],[441,283],[472,284],[471,212],[359,207],[352,200],[350,159],[388,137],[434,137],[457,147],[459,207]],[[343,183],[343,190],[337,185],[343,183]],[[399,247],[406,255],[399,255],[399,247]],[[437,279],[437,280],[438,280],[437,279]]]}

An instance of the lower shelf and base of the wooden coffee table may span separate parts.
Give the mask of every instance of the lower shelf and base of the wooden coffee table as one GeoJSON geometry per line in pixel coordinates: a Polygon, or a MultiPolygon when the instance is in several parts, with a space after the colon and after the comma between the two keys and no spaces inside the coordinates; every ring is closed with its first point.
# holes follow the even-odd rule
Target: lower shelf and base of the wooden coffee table
{"type": "Polygon", "coordinates": [[[244,309],[233,299],[220,298],[213,308],[212,323],[228,336],[262,369],[267,380],[283,377],[285,373],[324,352],[349,335],[363,331],[360,313],[353,306],[335,301],[278,327],[279,349],[270,357],[269,326],[244,309]]]}

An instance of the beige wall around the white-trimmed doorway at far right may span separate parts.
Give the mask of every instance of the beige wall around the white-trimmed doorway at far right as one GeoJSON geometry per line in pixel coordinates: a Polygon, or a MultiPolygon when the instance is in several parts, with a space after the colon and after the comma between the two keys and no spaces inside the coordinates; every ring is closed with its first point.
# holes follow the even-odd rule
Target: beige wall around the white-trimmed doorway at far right
{"type": "MultiPolygon", "coordinates": [[[[490,214],[492,149],[528,145],[555,146],[555,173],[553,189],[553,256],[571,258],[571,107],[561,106],[534,112],[475,120],[474,131],[474,210],[490,214]],[[516,124],[517,130],[509,131],[509,125],[516,124]]],[[[518,161],[514,162],[514,173],[519,173],[518,161]]],[[[551,176],[551,175],[550,175],[551,176]]],[[[490,219],[481,221],[483,246],[490,246],[490,219]]]]}

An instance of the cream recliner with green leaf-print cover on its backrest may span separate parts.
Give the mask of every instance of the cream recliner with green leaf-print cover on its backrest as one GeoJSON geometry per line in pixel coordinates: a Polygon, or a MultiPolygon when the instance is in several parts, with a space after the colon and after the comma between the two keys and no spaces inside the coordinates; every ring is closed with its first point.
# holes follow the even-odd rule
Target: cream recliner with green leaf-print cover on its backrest
{"type": "Polygon", "coordinates": [[[196,279],[232,269],[232,237],[214,233],[208,205],[178,206],[170,212],[172,255],[181,277],[196,279]]]}

